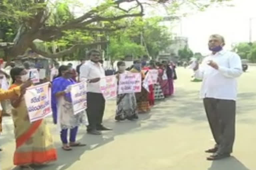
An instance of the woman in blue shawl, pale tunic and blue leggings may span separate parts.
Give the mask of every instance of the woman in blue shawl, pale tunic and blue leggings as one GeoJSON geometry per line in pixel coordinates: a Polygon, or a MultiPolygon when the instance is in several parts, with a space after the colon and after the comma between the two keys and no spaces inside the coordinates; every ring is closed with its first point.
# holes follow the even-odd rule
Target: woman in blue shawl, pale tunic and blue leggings
{"type": "Polygon", "coordinates": [[[76,142],[78,126],[83,123],[85,117],[84,112],[74,115],[72,108],[71,94],[68,86],[75,84],[72,80],[72,68],[62,65],[59,68],[58,76],[52,82],[52,112],[54,124],[58,124],[61,128],[60,138],[63,143],[64,150],[71,150],[70,146],[85,146],[76,142]],[[67,140],[68,129],[70,129],[69,143],[67,140]]]}

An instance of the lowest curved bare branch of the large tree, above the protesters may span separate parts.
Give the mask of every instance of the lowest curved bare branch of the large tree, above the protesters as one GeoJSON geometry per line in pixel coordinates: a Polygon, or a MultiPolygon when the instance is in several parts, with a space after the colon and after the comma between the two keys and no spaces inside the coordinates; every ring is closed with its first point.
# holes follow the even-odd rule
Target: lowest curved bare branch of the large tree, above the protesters
{"type": "Polygon", "coordinates": [[[60,51],[60,52],[57,52],[57,53],[54,53],[54,54],[50,54],[50,53],[47,53],[45,51],[42,51],[40,49],[38,49],[36,47],[36,45],[34,43],[32,43],[30,45],[30,48],[37,54],[40,54],[44,57],[47,57],[47,58],[59,58],[59,57],[62,57],[64,55],[68,55],[68,54],[71,54],[73,53],[75,50],[77,50],[78,48],[80,47],[86,47],[86,46],[91,46],[91,45],[98,45],[98,44],[104,44],[104,43],[108,43],[109,41],[102,41],[102,42],[93,42],[93,43],[89,43],[89,44],[75,44],[73,45],[72,47],[68,48],[68,49],[65,49],[63,51],[60,51]]]}

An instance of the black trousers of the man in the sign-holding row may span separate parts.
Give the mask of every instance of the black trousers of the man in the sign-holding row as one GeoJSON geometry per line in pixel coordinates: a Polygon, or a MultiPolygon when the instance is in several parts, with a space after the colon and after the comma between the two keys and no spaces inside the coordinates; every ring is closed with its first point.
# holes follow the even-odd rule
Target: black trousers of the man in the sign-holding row
{"type": "Polygon", "coordinates": [[[87,131],[97,129],[102,124],[105,110],[105,99],[101,93],[87,93],[87,131]]]}

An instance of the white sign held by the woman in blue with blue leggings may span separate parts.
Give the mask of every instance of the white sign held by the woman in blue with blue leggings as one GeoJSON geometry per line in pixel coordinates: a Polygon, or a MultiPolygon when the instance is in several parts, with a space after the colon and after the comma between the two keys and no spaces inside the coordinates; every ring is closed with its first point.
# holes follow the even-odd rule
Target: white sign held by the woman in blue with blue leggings
{"type": "Polygon", "coordinates": [[[81,111],[84,111],[87,108],[87,83],[83,81],[81,83],[77,83],[71,85],[71,99],[73,104],[74,114],[78,114],[81,111]]]}

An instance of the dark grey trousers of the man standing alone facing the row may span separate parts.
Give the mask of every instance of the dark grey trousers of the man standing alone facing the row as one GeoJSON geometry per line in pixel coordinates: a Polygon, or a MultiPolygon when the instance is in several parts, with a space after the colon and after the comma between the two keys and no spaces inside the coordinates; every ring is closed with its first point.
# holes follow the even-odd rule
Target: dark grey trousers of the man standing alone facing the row
{"type": "Polygon", "coordinates": [[[208,122],[218,147],[217,153],[231,153],[235,140],[236,102],[213,98],[205,98],[203,101],[208,122]]]}

